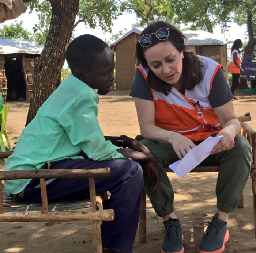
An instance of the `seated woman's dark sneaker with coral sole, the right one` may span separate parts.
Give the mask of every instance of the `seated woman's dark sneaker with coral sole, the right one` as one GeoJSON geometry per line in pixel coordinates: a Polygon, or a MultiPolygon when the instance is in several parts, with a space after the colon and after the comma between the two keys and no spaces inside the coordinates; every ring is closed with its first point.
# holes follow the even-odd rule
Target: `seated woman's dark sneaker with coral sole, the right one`
{"type": "MultiPolygon", "coordinates": [[[[203,222],[208,223],[207,229],[204,232],[203,238],[198,247],[198,252],[223,252],[225,250],[225,243],[229,240],[229,230],[227,224],[221,221],[219,214],[215,214],[212,221],[203,222]]],[[[202,227],[200,224],[200,227],[202,227]]],[[[206,227],[203,226],[203,227],[206,227]]]]}

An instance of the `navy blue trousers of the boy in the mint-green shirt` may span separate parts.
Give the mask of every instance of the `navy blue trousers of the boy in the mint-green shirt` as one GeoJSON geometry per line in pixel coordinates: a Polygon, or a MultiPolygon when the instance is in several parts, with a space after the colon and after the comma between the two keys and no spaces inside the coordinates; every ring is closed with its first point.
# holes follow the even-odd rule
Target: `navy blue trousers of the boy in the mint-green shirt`
{"type": "MultiPolygon", "coordinates": [[[[111,197],[104,202],[104,209],[114,209],[114,221],[103,221],[102,244],[117,252],[132,252],[138,228],[143,191],[143,172],[137,162],[130,159],[93,161],[91,159],[66,159],[50,162],[52,169],[110,168],[110,177],[96,178],[97,192],[109,191],[111,197]]],[[[26,203],[41,202],[39,179],[33,179],[18,200],[26,203]]],[[[88,179],[56,179],[47,185],[49,202],[84,199],[90,196],[88,179]]]]}

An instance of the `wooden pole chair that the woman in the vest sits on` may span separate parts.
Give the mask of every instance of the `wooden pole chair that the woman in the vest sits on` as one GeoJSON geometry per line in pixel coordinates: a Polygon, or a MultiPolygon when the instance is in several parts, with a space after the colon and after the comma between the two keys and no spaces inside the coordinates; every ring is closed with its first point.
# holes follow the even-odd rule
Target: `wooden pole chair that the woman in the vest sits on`
{"type": "MultiPolygon", "coordinates": [[[[256,239],[256,132],[244,123],[245,121],[251,121],[251,116],[238,117],[241,123],[242,135],[248,140],[252,148],[252,165],[251,165],[251,177],[252,177],[252,189],[253,189],[253,210],[254,210],[254,224],[255,224],[255,239],[256,239]]],[[[139,135],[136,137],[139,139],[139,135]]],[[[173,172],[169,167],[166,167],[166,172],[173,172]]],[[[218,172],[219,166],[197,166],[191,172],[218,172]]],[[[237,205],[238,208],[244,208],[244,193],[242,193],[240,202],[237,205]]],[[[146,214],[146,193],[143,191],[142,204],[140,209],[139,220],[139,241],[147,242],[147,214],[146,214]]]]}

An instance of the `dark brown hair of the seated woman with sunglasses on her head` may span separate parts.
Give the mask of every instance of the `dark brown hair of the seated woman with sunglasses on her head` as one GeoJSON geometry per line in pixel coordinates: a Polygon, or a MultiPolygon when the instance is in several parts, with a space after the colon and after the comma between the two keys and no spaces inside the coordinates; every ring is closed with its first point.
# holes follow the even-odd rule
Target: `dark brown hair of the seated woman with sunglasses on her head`
{"type": "MultiPolygon", "coordinates": [[[[178,30],[178,28],[172,26],[170,23],[167,23],[164,21],[157,21],[149,25],[147,28],[145,28],[140,34],[140,37],[145,34],[152,34],[160,28],[169,28],[169,36],[165,41],[169,40],[180,53],[183,52],[184,58],[182,59],[182,63],[183,63],[182,76],[184,79],[188,81],[188,86],[186,87],[186,89],[192,90],[201,81],[201,78],[202,78],[201,67],[203,64],[195,53],[185,51],[186,49],[185,41],[187,39],[185,35],[182,34],[182,32],[178,30]]],[[[155,46],[158,43],[161,43],[164,41],[160,41],[155,37],[155,35],[151,35],[151,39],[152,39],[152,42],[148,47],[142,47],[140,46],[139,41],[137,42],[136,64],[138,66],[142,65],[143,68],[149,69],[148,76],[147,76],[148,86],[151,89],[162,92],[167,96],[172,89],[172,85],[166,83],[165,81],[155,76],[155,74],[150,70],[147,64],[147,60],[144,56],[144,52],[148,48],[155,46]]]]}

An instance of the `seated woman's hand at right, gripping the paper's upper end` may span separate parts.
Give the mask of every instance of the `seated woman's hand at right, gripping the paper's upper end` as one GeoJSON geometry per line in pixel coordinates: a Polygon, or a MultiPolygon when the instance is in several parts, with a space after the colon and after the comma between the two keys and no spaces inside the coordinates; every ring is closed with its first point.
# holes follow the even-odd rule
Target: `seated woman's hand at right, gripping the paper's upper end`
{"type": "Polygon", "coordinates": [[[221,137],[219,143],[212,149],[211,154],[216,154],[221,151],[229,150],[235,145],[235,137],[229,130],[222,129],[221,131],[219,131],[216,137],[220,135],[223,136],[221,137]]]}

